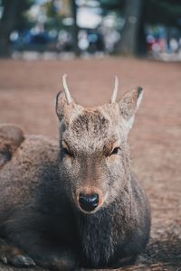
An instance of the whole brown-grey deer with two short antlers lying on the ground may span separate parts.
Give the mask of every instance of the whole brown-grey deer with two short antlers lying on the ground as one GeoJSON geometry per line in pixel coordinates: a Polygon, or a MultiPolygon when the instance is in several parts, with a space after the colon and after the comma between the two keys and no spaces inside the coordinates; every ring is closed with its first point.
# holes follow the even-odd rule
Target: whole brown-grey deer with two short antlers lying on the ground
{"type": "Polygon", "coordinates": [[[82,107],[66,75],[62,85],[58,142],[0,126],[0,260],[63,271],[134,263],[150,232],[128,145],[143,90],[117,102],[116,77],[110,103],[82,107]]]}

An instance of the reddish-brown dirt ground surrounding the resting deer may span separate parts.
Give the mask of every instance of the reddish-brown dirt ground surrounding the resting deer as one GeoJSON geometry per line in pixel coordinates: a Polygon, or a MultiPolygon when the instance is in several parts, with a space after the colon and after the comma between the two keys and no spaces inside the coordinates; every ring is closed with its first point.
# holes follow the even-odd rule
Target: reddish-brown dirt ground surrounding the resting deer
{"type": "Polygon", "coordinates": [[[84,106],[109,101],[115,74],[119,97],[136,86],[145,89],[129,145],[132,169],[151,204],[151,239],[135,266],[119,270],[181,270],[181,64],[128,58],[0,61],[0,123],[57,137],[54,100],[63,73],[84,106]]]}

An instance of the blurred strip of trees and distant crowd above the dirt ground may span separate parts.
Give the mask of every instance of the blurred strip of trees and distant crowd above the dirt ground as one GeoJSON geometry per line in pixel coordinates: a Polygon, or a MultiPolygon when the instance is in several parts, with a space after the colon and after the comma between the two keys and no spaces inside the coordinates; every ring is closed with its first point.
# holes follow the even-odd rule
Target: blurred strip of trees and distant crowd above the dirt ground
{"type": "Polygon", "coordinates": [[[181,0],[0,0],[2,57],[119,53],[180,61],[181,0]]]}

